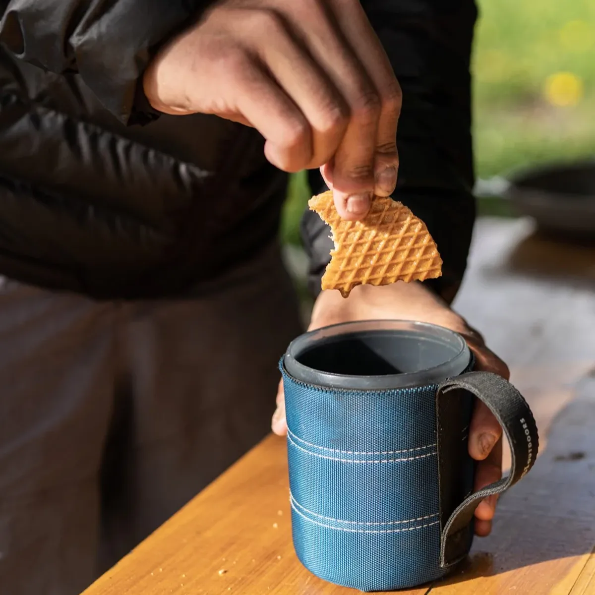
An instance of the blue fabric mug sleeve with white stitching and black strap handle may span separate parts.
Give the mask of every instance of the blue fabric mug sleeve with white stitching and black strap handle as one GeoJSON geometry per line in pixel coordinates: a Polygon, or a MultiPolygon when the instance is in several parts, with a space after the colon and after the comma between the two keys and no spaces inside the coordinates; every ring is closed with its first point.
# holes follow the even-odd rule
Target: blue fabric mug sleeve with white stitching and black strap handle
{"type": "Polygon", "coordinates": [[[280,368],[293,544],[303,565],[331,583],[390,591],[443,577],[469,552],[478,503],[535,461],[533,415],[497,375],[349,390],[297,380],[283,361],[280,368]],[[475,397],[496,415],[513,456],[508,477],[474,493],[475,397]]]}

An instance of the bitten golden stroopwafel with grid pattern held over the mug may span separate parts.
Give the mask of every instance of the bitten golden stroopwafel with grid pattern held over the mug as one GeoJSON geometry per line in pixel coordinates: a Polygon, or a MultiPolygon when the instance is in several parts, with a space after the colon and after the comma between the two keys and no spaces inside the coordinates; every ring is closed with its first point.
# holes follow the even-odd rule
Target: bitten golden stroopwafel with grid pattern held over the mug
{"type": "Polygon", "coordinates": [[[425,223],[402,203],[376,196],[362,221],[339,217],[329,190],[308,206],[332,232],[334,250],[322,277],[322,289],[343,297],[356,285],[432,279],[442,274],[442,259],[425,223]]]}

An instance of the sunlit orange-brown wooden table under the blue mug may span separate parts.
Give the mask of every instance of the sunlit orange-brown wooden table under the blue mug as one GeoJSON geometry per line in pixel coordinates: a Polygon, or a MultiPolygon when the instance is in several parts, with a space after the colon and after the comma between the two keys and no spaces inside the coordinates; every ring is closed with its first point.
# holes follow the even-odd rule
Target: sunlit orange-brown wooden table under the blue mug
{"type": "MultiPolygon", "coordinates": [[[[465,568],[400,593],[594,595],[595,251],[480,221],[456,306],[511,365],[546,447],[465,568]]],[[[356,593],[300,566],[287,492],[286,446],[270,436],[84,595],[356,593]]]]}

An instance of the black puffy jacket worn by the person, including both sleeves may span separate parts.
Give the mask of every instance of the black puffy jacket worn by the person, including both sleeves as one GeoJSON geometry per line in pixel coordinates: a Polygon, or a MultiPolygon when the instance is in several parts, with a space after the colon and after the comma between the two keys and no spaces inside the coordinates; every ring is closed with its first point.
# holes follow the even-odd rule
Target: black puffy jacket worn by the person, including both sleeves
{"type": "MultiPolygon", "coordinates": [[[[0,0],[0,274],[104,299],[180,295],[274,239],[287,176],[262,137],[208,115],[156,117],[140,91],[152,53],[208,4],[0,0]]],[[[475,6],[362,5],[403,89],[395,196],[434,235],[434,287],[451,299],[474,221],[475,6]]],[[[317,172],[311,184],[324,186],[317,172]]],[[[317,289],[328,230],[306,213],[302,231],[317,289]]]]}

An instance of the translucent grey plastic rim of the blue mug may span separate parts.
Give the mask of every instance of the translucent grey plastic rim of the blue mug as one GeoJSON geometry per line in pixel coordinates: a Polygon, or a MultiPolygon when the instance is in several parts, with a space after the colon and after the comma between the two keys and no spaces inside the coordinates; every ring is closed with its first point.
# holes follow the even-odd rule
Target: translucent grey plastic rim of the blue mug
{"type": "Polygon", "coordinates": [[[471,363],[471,350],[461,334],[450,328],[430,322],[394,319],[370,319],[339,322],[312,331],[306,331],[292,340],[283,356],[283,368],[295,380],[313,386],[347,390],[391,390],[440,384],[447,378],[458,376],[471,363]],[[345,330],[345,333],[341,331],[345,330]],[[363,331],[394,331],[399,334],[415,334],[415,339],[439,343],[444,347],[455,347],[454,355],[446,362],[431,368],[414,372],[383,375],[350,375],[325,372],[311,368],[297,361],[300,347],[316,340],[335,337],[341,334],[355,334],[363,331]]]}

